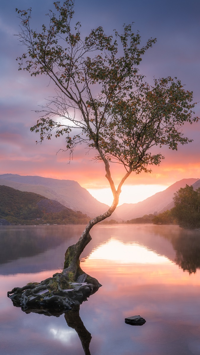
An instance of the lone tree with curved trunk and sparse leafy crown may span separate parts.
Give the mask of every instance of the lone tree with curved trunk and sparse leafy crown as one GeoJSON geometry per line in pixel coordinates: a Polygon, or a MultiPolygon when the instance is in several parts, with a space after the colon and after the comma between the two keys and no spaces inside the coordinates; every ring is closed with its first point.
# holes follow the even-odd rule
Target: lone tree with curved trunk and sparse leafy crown
{"type": "MultiPolygon", "coordinates": [[[[55,96],[38,112],[42,113],[31,131],[40,133],[40,142],[53,136],[66,137],[66,150],[72,157],[77,144],[96,151],[96,160],[105,164],[112,193],[112,206],[91,219],[77,244],[65,253],[62,275],[74,279],[83,271],[79,257],[91,240],[90,230],[109,217],[117,207],[121,186],[131,173],[151,172],[159,165],[162,146],[177,150],[178,143],[191,142],[181,133],[193,117],[193,93],[186,91],[177,78],[145,81],[138,66],[142,55],[156,42],[150,38],[141,46],[139,33],[124,25],[123,33],[106,35],[100,26],[82,38],[80,22],[73,23],[74,0],[54,2],[56,13],[49,10],[49,26],[37,33],[30,27],[31,9],[16,9],[21,21],[20,42],[27,48],[20,58],[19,70],[31,76],[46,75],[55,84],[55,96]],[[59,121],[58,121],[59,118],[59,121]],[[157,146],[156,154],[151,148],[157,146]],[[116,188],[110,162],[123,165],[125,174],[116,188]]],[[[154,149],[155,151],[155,149],[154,149]]],[[[98,285],[97,280],[87,276],[98,285]]]]}

